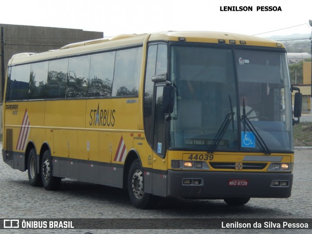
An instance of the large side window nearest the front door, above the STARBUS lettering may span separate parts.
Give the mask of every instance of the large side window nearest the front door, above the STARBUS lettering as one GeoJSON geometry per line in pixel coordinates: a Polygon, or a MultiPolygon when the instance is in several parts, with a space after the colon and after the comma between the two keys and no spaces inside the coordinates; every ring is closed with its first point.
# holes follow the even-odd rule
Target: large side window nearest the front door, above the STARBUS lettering
{"type": "Polygon", "coordinates": [[[112,96],[137,96],[142,47],[116,52],[112,96]]]}

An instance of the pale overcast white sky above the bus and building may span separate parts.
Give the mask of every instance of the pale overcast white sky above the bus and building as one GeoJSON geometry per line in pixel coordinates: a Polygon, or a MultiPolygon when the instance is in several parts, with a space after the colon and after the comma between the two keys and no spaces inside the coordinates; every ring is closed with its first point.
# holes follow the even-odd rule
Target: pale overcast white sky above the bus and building
{"type": "Polygon", "coordinates": [[[1,0],[0,9],[3,24],[75,28],[104,36],[191,30],[270,37],[312,31],[312,0],[1,0]],[[253,11],[225,11],[226,6],[253,11]],[[257,11],[257,6],[281,11],[257,11]]]}

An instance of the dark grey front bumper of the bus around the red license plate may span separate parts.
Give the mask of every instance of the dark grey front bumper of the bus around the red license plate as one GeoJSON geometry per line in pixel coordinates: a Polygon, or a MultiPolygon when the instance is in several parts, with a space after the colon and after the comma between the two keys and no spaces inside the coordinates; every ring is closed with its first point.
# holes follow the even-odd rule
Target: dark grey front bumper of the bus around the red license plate
{"type": "Polygon", "coordinates": [[[223,199],[230,197],[287,198],[292,192],[292,173],[198,172],[168,170],[168,196],[223,199]],[[199,185],[185,185],[183,179],[200,179],[199,185]],[[230,181],[247,181],[229,185],[230,181]],[[288,181],[287,186],[273,186],[273,180],[288,181]]]}

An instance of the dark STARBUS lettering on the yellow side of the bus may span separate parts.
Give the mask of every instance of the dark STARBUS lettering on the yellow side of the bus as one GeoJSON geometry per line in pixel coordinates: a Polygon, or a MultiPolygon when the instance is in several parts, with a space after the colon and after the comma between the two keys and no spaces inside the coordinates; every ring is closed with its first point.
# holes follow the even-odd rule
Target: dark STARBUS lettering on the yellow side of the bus
{"type": "Polygon", "coordinates": [[[116,110],[106,110],[106,109],[93,109],[90,110],[90,126],[112,126],[115,125],[115,116],[116,110]]]}

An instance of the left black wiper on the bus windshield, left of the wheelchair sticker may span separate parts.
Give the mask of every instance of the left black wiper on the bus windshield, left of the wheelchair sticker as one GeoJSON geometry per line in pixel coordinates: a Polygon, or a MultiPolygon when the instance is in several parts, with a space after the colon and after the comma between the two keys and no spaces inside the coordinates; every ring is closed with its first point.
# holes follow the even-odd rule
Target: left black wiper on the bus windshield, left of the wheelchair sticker
{"type": "Polygon", "coordinates": [[[234,114],[235,113],[233,112],[232,100],[231,100],[230,95],[229,95],[229,102],[230,102],[231,112],[225,116],[223,123],[221,124],[217,134],[215,135],[215,138],[214,138],[212,144],[210,145],[210,147],[208,149],[208,154],[213,154],[215,152],[216,148],[220,144],[221,139],[224,136],[225,131],[227,130],[231,121],[232,121],[232,128],[233,128],[233,132],[234,132],[234,114]]]}

